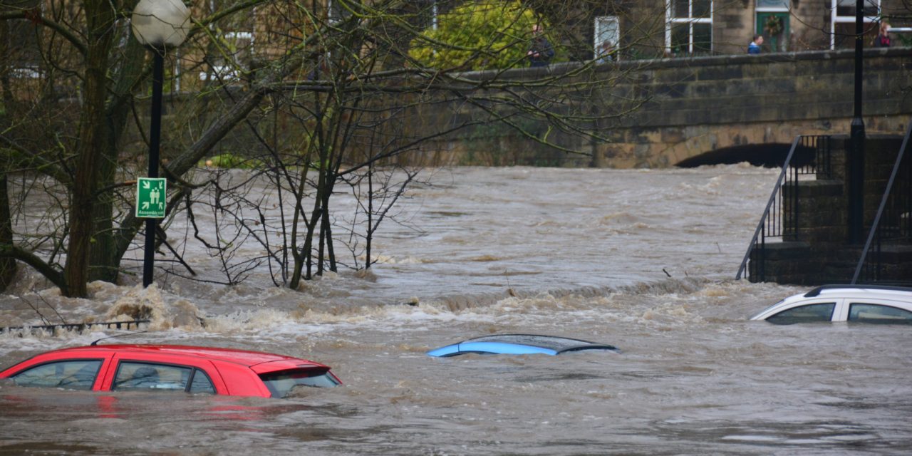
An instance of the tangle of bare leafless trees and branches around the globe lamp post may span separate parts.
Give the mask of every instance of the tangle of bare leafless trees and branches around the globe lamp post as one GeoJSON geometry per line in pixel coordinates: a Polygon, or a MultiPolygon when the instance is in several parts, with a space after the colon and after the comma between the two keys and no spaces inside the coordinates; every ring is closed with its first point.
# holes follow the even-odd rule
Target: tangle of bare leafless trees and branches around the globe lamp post
{"type": "MultiPolygon", "coordinates": [[[[358,213],[341,223],[347,226],[341,237],[365,241],[366,259],[353,266],[368,267],[370,240],[415,179],[408,163],[420,162],[419,155],[435,153],[459,132],[492,125],[515,140],[585,155],[592,141],[606,140],[600,131],[645,101],[611,91],[636,64],[588,60],[585,25],[605,14],[601,2],[520,5],[547,22],[558,51],[551,67],[534,71],[466,71],[502,53],[524,53],[526,32],[482,40],[457,65],[428,67],[409,55],[413,47],[466,50],[427,33],[438,11],[461,2],[199,3],[190,39],[171,60],[171,88],[176,92],[180,83],[182,95],[171,98],[161,163],[177,189],[159,244],[175,259],[175,273],[192,275],[178,253],[191,242],[219,258],[229,284],[264,264],[275,284],[291,287],[337,270],[334,222],[341,218],[332,202],[340,182],[358,195],[358,213]],[[251,171],[226,183],[227,173],[201,170],[199,163],[217,152],[248,160],[251,171]],[[397,166],[399,173],[389,171],[397,166]],[[258,180],[272,182],[268,196],[278,202],[250,193],[258,180]],[[201,211],[213,226],[194,223],[201,211]],[[172,238],[169,226],[177,217],[193,229],[172,238]],[[243,244],[260,245],[262,253],[237,254],[243,244]]],[[[49,212],[47,239],[40,243],[27,241],[36,233],[26,224],[12,224],[9,233],[0,226],[0,256],[36,268],[67,295],[82,296],[89,280],[118,279],[142,226],[132,215],[129,189],[146,150],[141,101],[149,62],[129,30],[135,2],[36,4],[0,9],[0,23],[33,27],[39,56],[29,78],[9,78],[22,67],[16,58],[4,58],[0,67],[5,97],[34,88],[5,101],[3,176],[15,176],[27,191],[0,192],[0,210],[5,203],[8,219],[16,220],[17,211],[29,208],[11,202],[53,195],[56,212],[49,212]],[[31,183],[36,180],[49,183],[39,187],[31,183]]],[[[654,21],[639,26],[653,30],[654,21]]],[[[640,44],[631,41],[618,52],[640,44]]],[[[515,67],[526,64],[513,60],[515,67]]],[[[352,254],[359,252],[356,244],[347,244],[352,254]]],[[[8,270],[2,266],[0,273],[8,270]]]]}

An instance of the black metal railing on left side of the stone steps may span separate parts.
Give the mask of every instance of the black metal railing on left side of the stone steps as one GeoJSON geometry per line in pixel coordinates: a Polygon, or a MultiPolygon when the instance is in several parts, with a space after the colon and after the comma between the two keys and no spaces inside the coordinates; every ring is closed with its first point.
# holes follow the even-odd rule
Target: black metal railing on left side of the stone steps
{"type": "Polygon", "coordinates": [[[740,280],[747,271],[751,253],[757,251],[755,272],[759,281],[766,280],[766,240],[771,237],[797,240],[798,222],[801,218],[798,204],[798,180],[800,176],[814,174],[816,179],[832,179],[833,158],[830,137],[825,135],[797,136],[792,141],[782,172],[772,188],[766,209],[757,223],[751,244],[738,268],[735,280],[740,280]],[[783,190],[783,188],[785,190],[783,190]]]}

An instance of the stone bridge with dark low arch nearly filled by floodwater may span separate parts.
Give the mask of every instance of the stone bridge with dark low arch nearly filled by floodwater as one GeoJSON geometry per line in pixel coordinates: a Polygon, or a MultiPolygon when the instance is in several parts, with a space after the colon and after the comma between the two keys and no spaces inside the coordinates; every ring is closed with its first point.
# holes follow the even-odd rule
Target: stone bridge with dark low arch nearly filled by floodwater
{"type": "MultiPolygon", "coordinates": [[[[854,51],[840,50],[611,63],[600,70],[629,70],[631,75],[612,90],[648,97],[648,102],[619,125],[602,130],[610,142],[564,140],[565,147],[591,158],[561,153],[542,162],[544,155],[530,157],[529,152],[511,152],[512,157],[501,160],[467,158],[483,149],[471,140],[483,135],[469,132],[438,144],[434,161],[613,168],[774,164],[783,160],[796,135],[848,133],[854,58],[854,51]]],[[[912,119],[912,48],[866,49],[863,87],[866,131],[902,134],[912,119]]],[[[489,148],[517,146],[503,139],[483,140],[489,148]]]]}

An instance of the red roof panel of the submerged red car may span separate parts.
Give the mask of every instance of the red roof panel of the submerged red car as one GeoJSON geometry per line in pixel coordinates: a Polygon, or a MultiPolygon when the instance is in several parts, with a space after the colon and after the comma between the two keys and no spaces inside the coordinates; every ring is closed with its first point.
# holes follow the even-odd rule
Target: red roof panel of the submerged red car
{"type": "Polygon", "coordinates": [[[178,355],[194,358],[205,358],[213,360],[222,360],[252,367],[257,364],[270,363],[275,361],[286,361],[289,365],[300,366],[306,364],[309,366],[323,366],[319,363],[302,358],[286,357],[284,355],[275,355],[273,353],[264,353],[260,351],[239,350],[234,348],[219,347],[191,347],[179,345],[139,345],[139,344],[122,344],[122,345],[98,345],[87,347],[70,347],[53,350],[53,352],[67,351],[117,351],[133,353],[160,353],[164,355],[178,355]]]}

